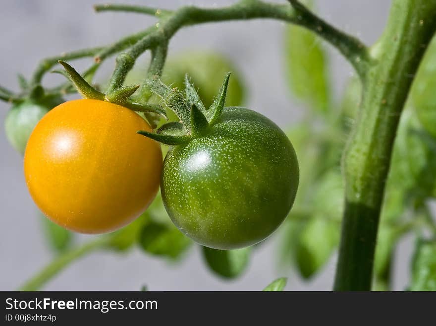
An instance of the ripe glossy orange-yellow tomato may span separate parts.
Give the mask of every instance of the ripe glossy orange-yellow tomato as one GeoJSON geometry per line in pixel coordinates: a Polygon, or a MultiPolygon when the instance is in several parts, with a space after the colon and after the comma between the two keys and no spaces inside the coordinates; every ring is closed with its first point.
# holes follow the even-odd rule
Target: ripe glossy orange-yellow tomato
{"type": "Polygon", "coordinates": [[[55,223],[81,233],[116,230],[156,196],[160,145],[135,112],[99,100],[60,104],[36,125],[24,154],[29,192],[55,223]]]}

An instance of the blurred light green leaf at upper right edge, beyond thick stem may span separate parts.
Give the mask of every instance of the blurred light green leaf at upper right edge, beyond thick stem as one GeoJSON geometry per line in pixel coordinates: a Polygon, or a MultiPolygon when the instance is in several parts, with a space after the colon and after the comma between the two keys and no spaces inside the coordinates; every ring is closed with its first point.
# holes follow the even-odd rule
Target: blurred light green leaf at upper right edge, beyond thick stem
{"type": "Polygon", "coordinates": [[[436,38],[421,62],[412,85],[411,99],[419,121],[436,137],[436,38]]]}

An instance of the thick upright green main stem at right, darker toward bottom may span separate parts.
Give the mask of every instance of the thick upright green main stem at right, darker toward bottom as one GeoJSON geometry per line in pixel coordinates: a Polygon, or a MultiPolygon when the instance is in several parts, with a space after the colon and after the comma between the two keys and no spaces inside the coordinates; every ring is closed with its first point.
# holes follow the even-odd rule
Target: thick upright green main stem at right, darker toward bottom
{"type": "Polygon", "coordinates": [[[334,290],[370,290],[380,210],[398,121],[436,30],[436,0],[393,0],[363,79],[363,98],[343,157],[345,210],[334,290]]]}

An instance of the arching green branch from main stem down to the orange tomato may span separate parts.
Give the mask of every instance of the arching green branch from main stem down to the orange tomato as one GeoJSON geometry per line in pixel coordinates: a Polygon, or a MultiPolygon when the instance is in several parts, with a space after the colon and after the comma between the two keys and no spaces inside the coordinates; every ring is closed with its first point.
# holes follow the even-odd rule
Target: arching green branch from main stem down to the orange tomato
{"type": "MultiPolygon", "coordinates": [[[[182,27],[194,24],[227,21],[235,19],[273,18],[296,25],[301,25],[327,42],[335,46],[356,68],[360,75],[366,71],[369,64],[367,48],[358,39],[337,30],[324,20],[311,13],[298,1],[289,4],[267,3],[260,0],[241,0],[233,5],[222,8],[199,8],[185,6],[173,11],[156,24],[157,30],[146,35],[126,52],[117,58],[117,64],[109,84],[109,92],[121,87],[127,72],[133,67],[135,60],[146,50],[167,44],[169,39],[182,27]]],[[[106,10],[121,10],[119,6],[107,4],[106,10]]],[[[155,14],[156,8],[129,6],[128,11],[142,11],[155,14]]],[[[164,62],[162,62],[163,65],[164,62]]],[[[161,69],[162,70],[162,67],[161,69]]]]}

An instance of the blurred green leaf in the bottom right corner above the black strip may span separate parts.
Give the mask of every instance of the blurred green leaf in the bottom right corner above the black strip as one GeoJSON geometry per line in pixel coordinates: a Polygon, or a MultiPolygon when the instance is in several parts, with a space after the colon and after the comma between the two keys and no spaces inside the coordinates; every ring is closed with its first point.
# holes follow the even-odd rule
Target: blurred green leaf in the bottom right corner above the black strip
{"type": "Polygon", "coordinates": [[[412,261],[411,291],[436,291],[436,241],[418,240],[412,261]]]}

